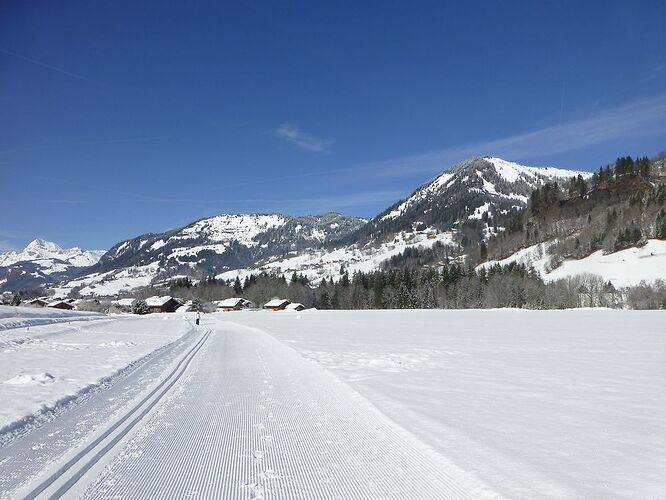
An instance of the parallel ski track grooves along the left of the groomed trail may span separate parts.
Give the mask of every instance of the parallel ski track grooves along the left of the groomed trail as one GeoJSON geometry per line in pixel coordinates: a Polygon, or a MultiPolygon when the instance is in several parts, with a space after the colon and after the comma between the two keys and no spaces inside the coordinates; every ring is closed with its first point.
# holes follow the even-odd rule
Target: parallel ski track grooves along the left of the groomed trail
{"type": "Polygon", "coordinates": [[[132,418],[137,412],[140,413],[124,428],[122,431],[115,436],[110,442],[108,442],[104,447],[99,450],[97,453],[95,453],[92,457],[90,457],[85,464],[83,464],[77,471],[76,473],[69,478],[65,484],[63,484],[58,490],[56,490],[55,493],[53,493],[49,498],[61,498],[67,491],[74,486],[77,481],[85,474],[93,465],[95,465],[108,451],[113,448],[118,441],[120,441],[123,437],[127,435],[127,433],[134,428],[134,426],[141,420],[143,419],[146,414],[152,410],[157,403],[159,403],[164,395],[169,392],[169,390],[174,386],[176,382],[180,379],[180,377],[185,373],[185,370],[187,370],[187,367],[191,363],[191,361],[194,359],[196,356],[197,352],[199,352],[199,349],[203,346],[203,344],[206,342],[208,337],[210,336],[211,330],[207,330],[201,338],[197,341],[197,343],[183,356],[183,358],[178,362],[178,364],[175,366],[175,368],[167,375],[162,382],[160,382],[150,393],[148,393],[139,403],[137,403],[128,413],[126,413],[122,418],[117,420],[111,427],[109,427],[106,431],[104,431],[103,434],[101,434],[99,437],[97,437],[92,443],[90,443],[88,446],[86,446],[84,449],[82,449],[80,452],[78,452],[74,457],[72,457],[70,460],[68,460],[64,465],[62,465],[57,471],[55,471],[51,476],[49,476],[46,480],[42,481],[36,488],[34,488],[30,493],[28,493],[24,498],[26,500],[32,500],[34,498],[37,498],[44,490],[46,490],[49,486],[51,486],[55,481],[58,480],[65,472],[67,472],[70,468],[75,466],[78,462],[80,462],[82,459],[86,457],[91,451],[94,451],[95,448],[102,443],[107,437],[109,437],[113,432],[115,432],[122,424],[124,424],[127,420],[132,418]],[[160,392],[161,390],[161,392],[160,392]],[[146,402],[150,401],[150,399],[155,396],[160,392],[160,394],[155,397],[148,405],[146,405],[146,402]],[[144,405],[146,405],[144,407],[144,405]]]}

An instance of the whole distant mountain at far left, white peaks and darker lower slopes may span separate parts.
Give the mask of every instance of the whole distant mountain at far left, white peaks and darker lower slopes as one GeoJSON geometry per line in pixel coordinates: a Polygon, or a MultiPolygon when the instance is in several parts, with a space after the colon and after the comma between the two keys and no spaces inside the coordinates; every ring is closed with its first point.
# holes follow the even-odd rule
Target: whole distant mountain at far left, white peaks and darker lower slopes
{"type": "Polygon", "coordinates": [[[36,239],[20,252],[0,254],[0,291],[36,288],[74,276],[99,261],[104,250],[61,248],[36,239]]]}

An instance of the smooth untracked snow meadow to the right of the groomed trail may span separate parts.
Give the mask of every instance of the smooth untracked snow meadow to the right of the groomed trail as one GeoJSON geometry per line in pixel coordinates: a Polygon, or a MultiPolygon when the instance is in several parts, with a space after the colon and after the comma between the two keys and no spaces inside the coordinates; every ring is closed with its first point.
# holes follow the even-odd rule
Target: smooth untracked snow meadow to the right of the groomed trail
{"type": "Polygon", "coordinates": [[[220,314],[322,364],[509,498],[663,498],[662,312],[220,314]]]}

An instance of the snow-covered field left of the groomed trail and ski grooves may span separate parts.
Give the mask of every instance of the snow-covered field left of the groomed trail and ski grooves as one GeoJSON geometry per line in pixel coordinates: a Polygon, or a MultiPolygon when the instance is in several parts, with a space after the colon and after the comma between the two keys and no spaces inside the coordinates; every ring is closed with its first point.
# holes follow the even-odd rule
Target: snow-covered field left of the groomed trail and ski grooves
{"type": "Polygon", "coordinates": [[[0,306],[0,431],[189,331],[189,323],[173,319],[0,306]]]}

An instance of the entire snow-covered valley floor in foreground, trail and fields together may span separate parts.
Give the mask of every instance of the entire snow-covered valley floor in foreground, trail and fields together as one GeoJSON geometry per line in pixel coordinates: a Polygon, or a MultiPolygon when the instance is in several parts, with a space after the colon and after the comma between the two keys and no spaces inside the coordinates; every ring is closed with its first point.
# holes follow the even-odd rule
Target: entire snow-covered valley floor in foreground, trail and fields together
{"type": "Polygon", "coordinates": [[[192,319],[3,332],[3,422],[96,389],[0,432],[0,498],[664,497],[661,312],[192,319]]]}

